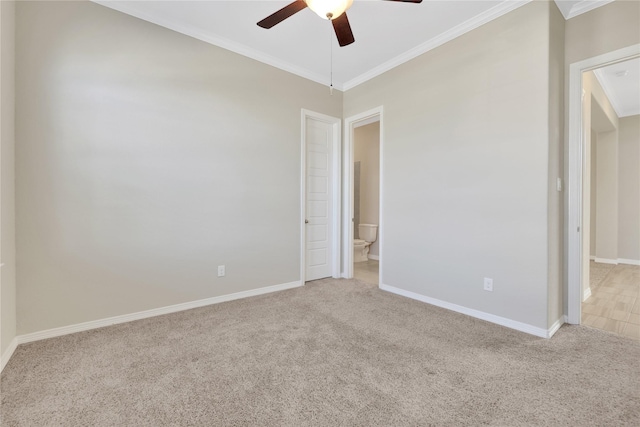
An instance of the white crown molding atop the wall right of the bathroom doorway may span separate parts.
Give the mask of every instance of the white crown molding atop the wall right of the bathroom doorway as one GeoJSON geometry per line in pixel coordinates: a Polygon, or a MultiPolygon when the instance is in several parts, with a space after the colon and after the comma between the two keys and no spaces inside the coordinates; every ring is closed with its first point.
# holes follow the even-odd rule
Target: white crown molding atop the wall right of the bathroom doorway
{"type": "Polygon", "coordinates": [[[368,80],[371,80],[374,77],[379,76],[380,74],[383,74],[395,67],[397,67],[398,65],[404,64],[405,62],[408,62],[432,49],[437,48],[438,46],[441,46],[443,44],[445,44],[448,41],[451,41],[457,37],[460,37],[463,34],[468,33],[469,31],[475,30],[476,28],[480,27],[481,25],[484,25],[490,21],[493,21],[496,18],[501,17],[502,15],[505,15],[513,10],[518,9],[519,7],[524,6],[527,3],[530,3],[532,0],[514,0],[514,1],[504,1],[502,3],[500,3],[499,5],[487,10],[484,13],[481,13],[480,15],[477,15],[471,19],[469,19],[468,21],[463,22],[460,25],[457,25],[453,28],[451,28],[450,30],[430,39],[427,40],[426,42],[416,46],[415,48],[403,53],[402,55],[398,55],[395,58],[381,64],[378,65],[375,68],[372,68],[371,70],[367,71],[366,73],[363,73],[361,75],[359,75],[358,77],[355,77],[347,82],[344,83],[343,87],[344,87],[344,91],[347,91],[349,89],[352,89],[368,80]]]}

